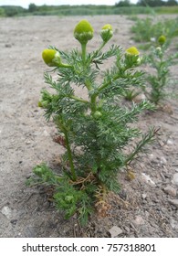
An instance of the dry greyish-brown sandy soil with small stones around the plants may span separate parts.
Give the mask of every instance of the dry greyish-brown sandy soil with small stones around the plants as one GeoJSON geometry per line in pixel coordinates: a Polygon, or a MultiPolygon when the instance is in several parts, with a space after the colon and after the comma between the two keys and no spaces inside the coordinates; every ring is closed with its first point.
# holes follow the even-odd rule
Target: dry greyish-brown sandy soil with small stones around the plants
{"type": "MultiPolygon", "coordinates": [[[[178,109],[167,101],[164,112],[143,114],[138,125],[160,127],[157,142],[141,163],[132,166],[135,179],[120,174],[119,200],[111,200],[110,216],[92,216],[79,226],[76,217],[64,220],[47,200],[44,189],[26,187],[26,178],[40,162],[58,165],[62,147],[52,140],[55,127],[37,107],[47,70],[41,52],[49,45],[67,50],[79,47],[73,28],[83,17],[30,16],[0,19],[0,237],[178,237],[178,109]],[[146,177],[151,181],[146,181],[146,177]]],[[[112,24],[111,43],[131,47],[133,21],[126,16],[89,16],[95,38],[112,24]]],[[[110,63],[107,65],[110,66],[110,63]]],[[[177,79],[177,67],[172,68],[177,79]]],[[[83,93],[79,91],[79,93],[83,93]]]]}

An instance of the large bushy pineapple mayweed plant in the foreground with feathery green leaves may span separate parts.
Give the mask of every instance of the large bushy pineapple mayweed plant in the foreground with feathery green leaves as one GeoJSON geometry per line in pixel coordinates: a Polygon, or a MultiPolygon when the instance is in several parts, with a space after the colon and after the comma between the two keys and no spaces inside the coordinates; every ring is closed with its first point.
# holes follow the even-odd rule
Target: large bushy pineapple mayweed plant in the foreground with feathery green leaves
{"type": "Polygon", "coordinates": [[[133,104],[130,109],[121,101],[124,91],[142,82],[142,72],[137,69],[140,53],[137,48],[123,52],[115,45],[103,51],[112,35],[109,24],[102,27],[99,48],[87,52],[93,27],[81,20],[74,29],[81,51],[66,53],[50,47],[42,54],[45,63],[54,68],[45,73],[54,93],[42,90],[39,106],[44,108],[47,121],[52,119],[56,124],[58,143],[66,153],[59,173],[43,163],[34,167],[36,176],[30,182],[52,186],[57,208],[64,210],[66,218],[77,214],[82,224],[95,210],[99,216],[107,215],[110,191],[120,191],[120,169],[130,165],[144,146],[152,143],[155,134],[154,129],[142,134],[131,125],[136,124],[142,111],[152,109],[148,101],[133,104]],[[110,58],[115,58],[112,67],[101,70],[110,58]],[[53,72],[58,73],[57,80],[53,72]],[[100,74],[102,80],[97,79],[100,74]],[[87,89],[87,100],[76,95],[74,84],[87,89]],[[137,137],[140,139],[133,146],[137,137]]]}

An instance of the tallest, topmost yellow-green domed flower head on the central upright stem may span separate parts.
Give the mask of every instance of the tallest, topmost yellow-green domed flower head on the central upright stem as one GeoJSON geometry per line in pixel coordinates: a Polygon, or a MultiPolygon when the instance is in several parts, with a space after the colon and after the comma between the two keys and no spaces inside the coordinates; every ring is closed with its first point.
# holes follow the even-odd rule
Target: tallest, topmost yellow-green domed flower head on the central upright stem
{"type": "Polygon", "coordinates": [[[74,37],[79,40],[80,44],[87,44],[87,42],[93,37],[93,27],[86,19],[79,21],[74,28],[74,37]]]}

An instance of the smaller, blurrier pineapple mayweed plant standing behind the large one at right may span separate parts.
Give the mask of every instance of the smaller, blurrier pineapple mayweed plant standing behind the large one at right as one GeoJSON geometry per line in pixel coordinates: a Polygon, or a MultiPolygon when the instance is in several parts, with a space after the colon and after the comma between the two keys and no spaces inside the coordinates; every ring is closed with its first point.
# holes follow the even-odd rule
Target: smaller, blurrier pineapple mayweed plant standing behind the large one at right
{"type": "Polygon", "coordinates": [[[178,53],[169,54],[167,39],[163,35],[158,37],[157,45],[152,46],[146,61],[154,69],[154,72],[147,75],[151,91],[146,91],[148,98],[155,105],[159,105],[167,97],[166,88],[171,82],[170,66],[177,63],[178,53]]]}

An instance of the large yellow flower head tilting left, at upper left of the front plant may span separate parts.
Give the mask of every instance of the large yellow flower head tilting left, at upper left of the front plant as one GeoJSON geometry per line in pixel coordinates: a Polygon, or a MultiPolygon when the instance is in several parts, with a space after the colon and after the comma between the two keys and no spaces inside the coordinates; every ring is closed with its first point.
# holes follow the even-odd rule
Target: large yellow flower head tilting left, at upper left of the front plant
{"type": "Polygon", "coordinates": [[[60,54],[55,49],[44,49],[42,58],[49,67],[58,67],[61,64],[60,54]]]}

